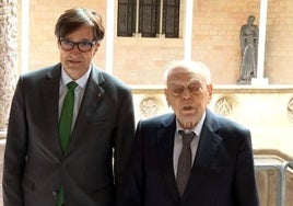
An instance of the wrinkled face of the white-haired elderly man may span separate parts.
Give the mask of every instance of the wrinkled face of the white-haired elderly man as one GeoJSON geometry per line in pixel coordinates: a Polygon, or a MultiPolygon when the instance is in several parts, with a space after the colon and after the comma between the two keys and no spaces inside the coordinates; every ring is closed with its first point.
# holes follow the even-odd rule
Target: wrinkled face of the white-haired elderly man
{"type": "Polygon", "coordinates": [[[200,73],[176,68],[167,77],[164,90],[183,128],[194,128],[200,121],[212,95],[212,84],[207,84],[200,73]]]}

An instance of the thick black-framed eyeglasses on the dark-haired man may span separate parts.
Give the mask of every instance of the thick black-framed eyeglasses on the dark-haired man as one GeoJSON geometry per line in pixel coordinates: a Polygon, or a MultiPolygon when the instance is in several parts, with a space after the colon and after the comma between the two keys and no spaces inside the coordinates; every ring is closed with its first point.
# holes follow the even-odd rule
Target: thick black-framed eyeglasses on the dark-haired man
{"type": "Polygon", "coordinates": [[[82,42],[72,42],[65,38],[59,38],[59,44],[63,50],[72,50],[77,45],[79,50],[82,53],[87,53],[92,49],[95,42],[82,41],[82,42]]]}

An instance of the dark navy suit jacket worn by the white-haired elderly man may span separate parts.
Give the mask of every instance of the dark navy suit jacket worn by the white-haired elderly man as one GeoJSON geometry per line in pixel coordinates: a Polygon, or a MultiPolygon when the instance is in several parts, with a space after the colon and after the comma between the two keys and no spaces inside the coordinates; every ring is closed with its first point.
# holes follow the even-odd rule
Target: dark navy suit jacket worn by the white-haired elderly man
{"type": "Polygon", "coordinates": [[[179,197],[173,168],[174,114],[141,121],[124,206],[258,206],[249,130],[207,110],[188,185],[179,197]]]}

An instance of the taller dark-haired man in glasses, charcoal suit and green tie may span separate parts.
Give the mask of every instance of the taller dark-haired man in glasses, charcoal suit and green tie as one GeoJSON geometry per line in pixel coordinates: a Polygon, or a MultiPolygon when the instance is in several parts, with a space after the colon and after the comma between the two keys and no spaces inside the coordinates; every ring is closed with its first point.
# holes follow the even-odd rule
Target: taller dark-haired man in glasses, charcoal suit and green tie
{"type": "Polygon", "coordinates": [[[60,64],[21,76],[14,93],[4,205],[113,206],[134,137],[131,91],[92,64],[104,37],[95,12],[66,11],[55,34],[60,64]],[[71,135],[62,145],[58,119],[71,81],[77,87],[71,135]]]}

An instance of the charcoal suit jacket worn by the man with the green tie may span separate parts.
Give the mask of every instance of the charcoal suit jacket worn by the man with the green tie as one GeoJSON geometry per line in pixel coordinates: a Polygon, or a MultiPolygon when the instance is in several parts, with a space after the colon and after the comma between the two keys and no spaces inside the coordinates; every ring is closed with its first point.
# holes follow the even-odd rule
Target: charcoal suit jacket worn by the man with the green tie
{"type": "Polygon", "coordinates": [[[68,206],[114,205],[134,137],[130,89],[93,66],[62,154],[60,69],[59,64],[19,79],[4,152],[5,206],[55,206],[60,185],[68,206]]]}

